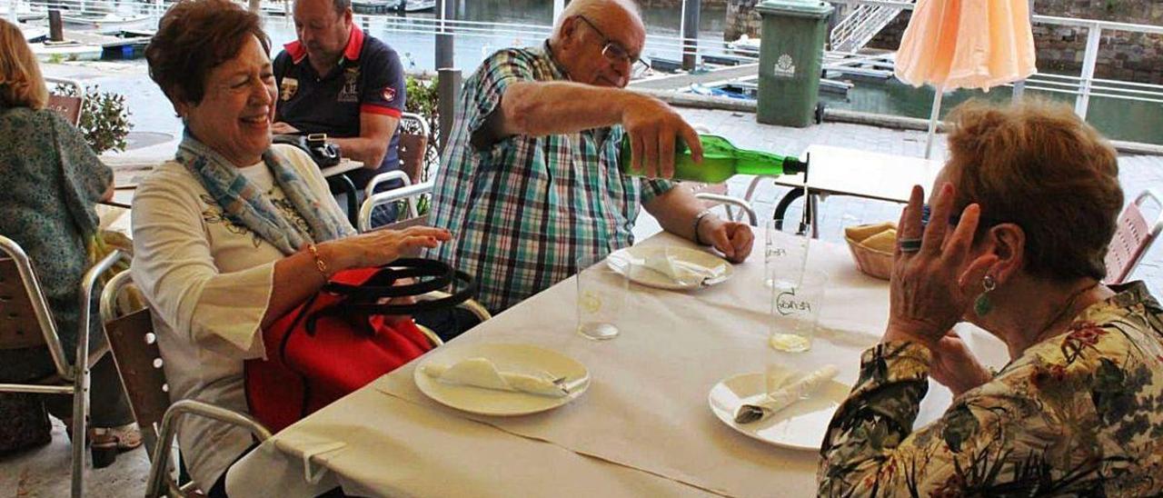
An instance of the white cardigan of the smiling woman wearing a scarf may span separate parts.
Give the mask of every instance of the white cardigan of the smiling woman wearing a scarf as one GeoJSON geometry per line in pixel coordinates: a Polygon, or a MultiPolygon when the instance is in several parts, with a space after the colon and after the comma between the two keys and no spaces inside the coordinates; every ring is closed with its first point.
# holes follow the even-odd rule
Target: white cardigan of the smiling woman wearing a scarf
{"type": "MultiPolygon", "coordinates": [[[[322,208],[347,220],[306,152],[290,145],[274,150],[306,180],[322,208]]],[[[261,187],[273,183],[262,163],[242,172],[261,187]]],[[[272,193],[283,197],[277,185],[272,193]]],[[[242,364],[265,357],[261,322],[270,303],[274,262],[284,255],[226,220],[206,188],[172,161],[137,187],[133,235],[134,283],[152,311],[170,399],[198,399],[247,412],[242,364]]],[[[250,447],[251,436],[242,428],[186,417],[178,425],[178,442],[194,482],[208,490],[250,447]]]]}

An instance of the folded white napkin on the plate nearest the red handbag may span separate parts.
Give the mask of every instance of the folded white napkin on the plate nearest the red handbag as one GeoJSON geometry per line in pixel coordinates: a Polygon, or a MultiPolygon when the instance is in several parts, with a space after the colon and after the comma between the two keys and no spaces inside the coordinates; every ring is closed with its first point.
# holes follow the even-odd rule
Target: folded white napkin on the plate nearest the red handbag
{"type": "Polygon", "coordinates": [[[569,396],[564,384],[555,383],[547,372],[522,374],[501,371],[488,358],[462,360],[452,365],[428,363],[420,368],[424,375],[445,384],[470,385],[498,391],[525,392],[561,398],[569,396]]]}

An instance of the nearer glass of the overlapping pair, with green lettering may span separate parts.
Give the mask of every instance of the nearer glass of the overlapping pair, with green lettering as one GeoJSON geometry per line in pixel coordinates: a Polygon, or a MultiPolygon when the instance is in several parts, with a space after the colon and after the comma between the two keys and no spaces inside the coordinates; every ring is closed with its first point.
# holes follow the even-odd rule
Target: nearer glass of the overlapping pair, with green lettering
{"type": "Polygon", "coordinates": [[[769,343],[772,348],[785,353],[812,349],[827,286],[828,273],[806,270],[798,284],[771,287],[769,343]]]}

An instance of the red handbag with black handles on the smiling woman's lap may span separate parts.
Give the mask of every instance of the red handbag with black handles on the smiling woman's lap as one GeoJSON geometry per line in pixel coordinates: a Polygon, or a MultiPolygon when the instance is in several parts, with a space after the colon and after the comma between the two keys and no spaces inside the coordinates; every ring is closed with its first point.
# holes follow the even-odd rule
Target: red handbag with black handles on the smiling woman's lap
{"type": "Polygon", "coordinates": [[[433,344],[407,315],[458,305],[475,292],[471,277],[433,259],[335,273],[319,293],[263,330],[267,358],[248,360],[243,369],[250,414],[278,432],[408,363],[433,344]],[[402,278],[414,283],[395,285],[402,278]],[[450,287],[459,291],[383,304],[450,287]]]}

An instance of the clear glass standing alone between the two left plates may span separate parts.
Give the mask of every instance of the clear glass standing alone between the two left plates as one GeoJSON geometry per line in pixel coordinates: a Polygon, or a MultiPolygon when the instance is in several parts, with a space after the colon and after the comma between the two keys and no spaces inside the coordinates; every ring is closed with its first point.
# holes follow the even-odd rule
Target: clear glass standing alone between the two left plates
{"type": "Polygon", "coordinates": [[[595,341],[616,337],[621,332],[618,322],[626,307],[629,268],[615,271],[605,256],[586,255],[577,258],[577,269],[578,334],[595,341]]]}

